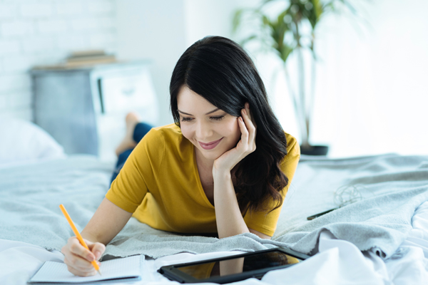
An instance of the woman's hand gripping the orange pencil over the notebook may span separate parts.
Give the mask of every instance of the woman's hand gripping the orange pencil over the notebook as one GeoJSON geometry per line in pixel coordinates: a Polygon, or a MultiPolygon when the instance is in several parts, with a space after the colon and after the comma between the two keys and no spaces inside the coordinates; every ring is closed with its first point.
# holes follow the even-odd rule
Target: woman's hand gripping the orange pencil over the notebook
{"type": "Polygon", "coordinates": [[[64,254],[64,263],[67,264],[68,271],[77,276],[93,276],[96,274],[96,270],[93,268],[91,261],[100,259],[103,252],[106,250],[106,246],[100,242],[86,242],[89,250],[83,247],[78,242],[77,237],[71,237],[61,252],[64,254]]]}

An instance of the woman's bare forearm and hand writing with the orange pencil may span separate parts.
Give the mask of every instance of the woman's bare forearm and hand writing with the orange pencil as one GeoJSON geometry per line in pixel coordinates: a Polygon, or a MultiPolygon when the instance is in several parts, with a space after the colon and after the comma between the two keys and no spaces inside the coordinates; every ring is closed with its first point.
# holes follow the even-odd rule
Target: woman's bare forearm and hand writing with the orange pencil
{"type": "Polygon", "coordinates": [[[61,249],[68,271],[78,276],[95,275],[96,271],[91,261],[101,257],[106,250],[106,244],[121,232],[131,216],[132,213],[126,212],[104,198],[81,232],[89,250],[83,247],[76,237],[68,239],[67,244],[61,249]]]}

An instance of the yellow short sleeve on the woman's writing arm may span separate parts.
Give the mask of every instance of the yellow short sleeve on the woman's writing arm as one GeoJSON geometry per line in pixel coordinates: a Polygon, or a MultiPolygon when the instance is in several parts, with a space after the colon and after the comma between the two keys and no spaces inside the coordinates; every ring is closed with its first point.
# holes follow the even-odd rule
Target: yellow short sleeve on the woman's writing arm
{"type": "Polygon", "coordinates": [[[155,178],[165,152],[165,140],[156,129],[150,130],[129,155],[106,198],[126,212],[133,213],[143,202],[148,185],[155,178]]]}

